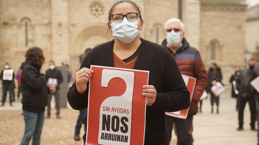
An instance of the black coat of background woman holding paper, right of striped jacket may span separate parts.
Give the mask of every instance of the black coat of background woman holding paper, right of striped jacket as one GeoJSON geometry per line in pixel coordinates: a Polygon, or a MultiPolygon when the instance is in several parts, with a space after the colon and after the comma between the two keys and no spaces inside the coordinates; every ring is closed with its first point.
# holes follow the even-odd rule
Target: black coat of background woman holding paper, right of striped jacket
{"type": "Polygon", "coordinates": [[[215,74],[213,72],[213,69],[210,68],[208,72],[208,83],[207,83],[206,91],[210,92],[210,88],[212,87],[212,84],[211,84],[212,81],[217,81],[221,83],[221,80],[222,80],[221,69],[218,67],[217,73],[215,74]]]}

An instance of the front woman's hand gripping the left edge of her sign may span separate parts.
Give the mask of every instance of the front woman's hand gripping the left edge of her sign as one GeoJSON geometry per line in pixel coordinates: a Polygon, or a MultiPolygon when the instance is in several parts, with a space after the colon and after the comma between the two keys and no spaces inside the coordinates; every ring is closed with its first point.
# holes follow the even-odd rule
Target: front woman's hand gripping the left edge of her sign
{"type": "Polygon", "coordinates": [[[85,67],[77,71],[75,79],[78,93],[84,93],[84,91],[87,89],[87,82],[91,79],[93,72],[94,71],[91,69],[85,67]]]}

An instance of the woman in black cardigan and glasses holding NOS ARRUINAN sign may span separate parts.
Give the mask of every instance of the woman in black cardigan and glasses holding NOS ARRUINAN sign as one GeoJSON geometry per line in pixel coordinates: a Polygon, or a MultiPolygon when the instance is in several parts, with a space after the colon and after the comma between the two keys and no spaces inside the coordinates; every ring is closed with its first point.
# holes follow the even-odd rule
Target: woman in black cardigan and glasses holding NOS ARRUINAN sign
{"type": "MultiPolygon", "coordinates": [[[[140,38],[144,25],[140,9],[128,0],[118,1],[110,8],[107,25],[114,40],[94,47],[87,54],[67,98],[72,108],[87,108],[89,80],[94,75],[90,65],[149,71],[149,85],[144,85],[142,92],[147,97],[144,144],[168,145],[165,112],[188,108],[190,93],[168,50],[140,38]]],[[[85,135],[83,138],[85,141],[85,135]]]]}

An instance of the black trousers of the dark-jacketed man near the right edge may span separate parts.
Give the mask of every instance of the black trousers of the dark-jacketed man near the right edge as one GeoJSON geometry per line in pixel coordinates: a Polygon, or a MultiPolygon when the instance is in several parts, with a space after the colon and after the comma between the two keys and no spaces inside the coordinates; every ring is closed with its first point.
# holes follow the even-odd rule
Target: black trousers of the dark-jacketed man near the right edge
{"type": "Polygon", "coordinates": [[[245,104],[248,101],[249,108],[251,112],[251,127],[255,127],[255,118],[256,118],[256,106],[255,106],[255,98],[239,98],[239,109],[238,109],[238,120],[239,120],[239,126],[243,127],[243,115],[244,115],[244,109],[245,104]]]}

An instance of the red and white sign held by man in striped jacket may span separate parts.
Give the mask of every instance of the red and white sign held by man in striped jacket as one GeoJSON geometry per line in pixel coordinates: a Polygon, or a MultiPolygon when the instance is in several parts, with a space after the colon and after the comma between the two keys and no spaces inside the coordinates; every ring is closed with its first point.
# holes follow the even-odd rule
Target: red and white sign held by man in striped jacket
{"type": "MultiPolygon", "coordinates": [[[[185,82],[185,85],[187,86],[188,91],[190,92],[190,100],[192,100],[192,94],[193,94],[193,91],[194,91],[196,78],[186,76],[186,75],[182,75],[182,78],[185,82]]],[[[169,116],[177,117],[177,118],[186,119],[186,117],[188,115],[189,108],[190,108],[190,106],[187,109],[184,109],[184,110],[180,110],[180,111],[177,111],[177,112],[165,112],[165,114],[169,115],[169,116]]]]}

